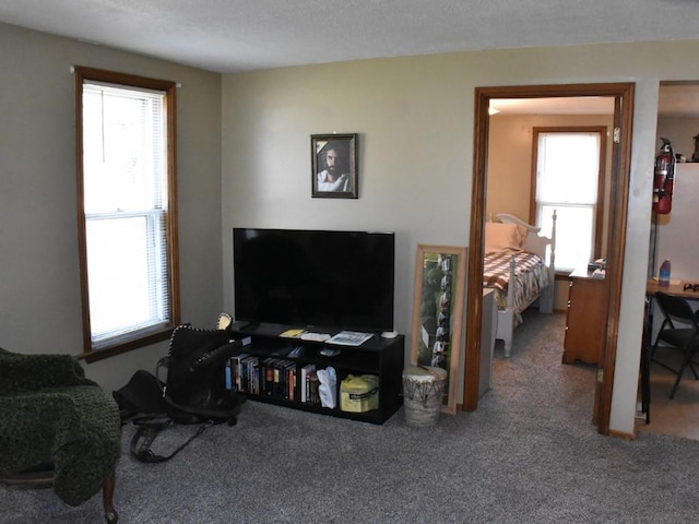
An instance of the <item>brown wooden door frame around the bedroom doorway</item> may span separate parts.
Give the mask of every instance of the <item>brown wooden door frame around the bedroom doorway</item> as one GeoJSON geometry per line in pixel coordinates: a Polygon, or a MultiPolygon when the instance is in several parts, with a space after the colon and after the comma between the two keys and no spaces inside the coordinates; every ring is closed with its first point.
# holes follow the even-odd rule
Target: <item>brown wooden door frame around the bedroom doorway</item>
{"type": "Polygon", "coordinates": [[[626,245],[626,223],[631,159],[631,123],[633,83],[523,85],[476,87],[474,111],[473,182],[471,199],[471,233],[469,241],[469,283],[466,290],[466,348],[464,361],[463,409],[473,412],[478,405],[478,371],[481,366],[481,323],[484,225],[486,215],[486,181],[488,151],[488,106],[494,98],[552,98],[606,96],[615,98],[611,193],[609,235],[605,296],[607,322],[602,358],[597,371],[597,388],[593,419],[602,434],[609,434],[609,413],[614,389],[614,366],[619,331],[621,277],[626,245]],[[618,129],[618,131],[617,131],[618,129]],[[476,285],[478,284],[478,285],[476,285]]]}

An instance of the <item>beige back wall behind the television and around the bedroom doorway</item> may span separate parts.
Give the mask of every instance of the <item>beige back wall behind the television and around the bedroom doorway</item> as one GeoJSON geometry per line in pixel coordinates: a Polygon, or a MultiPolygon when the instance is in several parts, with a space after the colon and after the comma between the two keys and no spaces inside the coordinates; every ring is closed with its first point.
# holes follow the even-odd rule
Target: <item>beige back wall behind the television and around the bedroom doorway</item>
{"type": "MultiPolygon", "coordinates": [[[[234,226],[396,231],[395,327],[417,243],[469,242],[477,86],[635,82],[632,174],[612,429],[632,432],[657,87],[699,79],[699,41],[445,53],[224,75],[224,303],[234,226]],[[670,58],[668,58],[670,57],[670,58]],[[358,200],[310,198],[310,134],[359,133],[358,200]]],[[[410,347],[410,340],[407,341],[410,347]]],[[[592,412],[592,406],[590,406],[592,412]]]]}

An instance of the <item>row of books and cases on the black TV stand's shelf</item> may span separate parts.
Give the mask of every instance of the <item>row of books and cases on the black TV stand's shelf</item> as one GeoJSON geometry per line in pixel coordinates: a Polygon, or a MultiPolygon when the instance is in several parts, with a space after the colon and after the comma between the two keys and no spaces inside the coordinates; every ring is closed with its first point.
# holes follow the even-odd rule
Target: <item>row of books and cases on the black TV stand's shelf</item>
{"type": "Polygon", "coordinates": [[[297,397],[296,362],[271,357],[260,361],[258,357],[241,354],[233,357],[226,367],[226,388],[252,395],[320,405],[316,366],[304,366],[300,376],[297,397]]]}

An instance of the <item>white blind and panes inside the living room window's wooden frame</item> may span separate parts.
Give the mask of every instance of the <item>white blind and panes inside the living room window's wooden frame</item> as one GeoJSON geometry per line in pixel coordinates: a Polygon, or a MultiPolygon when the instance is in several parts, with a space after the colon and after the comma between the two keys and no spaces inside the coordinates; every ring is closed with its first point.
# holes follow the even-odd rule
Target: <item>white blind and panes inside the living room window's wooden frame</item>
{"type": "Polygon", "coordinates": [[[83,85],[83,194],[91,337],[169,321],[165,94],[83,85]]]}

